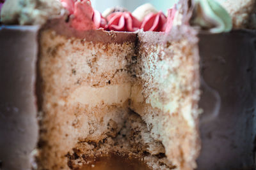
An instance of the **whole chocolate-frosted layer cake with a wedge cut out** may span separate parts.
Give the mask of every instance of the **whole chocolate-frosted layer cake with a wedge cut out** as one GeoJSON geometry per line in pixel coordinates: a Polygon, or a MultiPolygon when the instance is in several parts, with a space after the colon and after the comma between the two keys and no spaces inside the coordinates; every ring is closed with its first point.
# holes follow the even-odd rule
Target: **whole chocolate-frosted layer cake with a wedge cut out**
{"type": "Polygon", "coordinates": [[[12,11],[8,6],[17,2],[8,0],[1,11],[6,24],[14,17],[35,25],[1,26],[1,136],[10,134],[0,153],[3,168],[88,169],[108,157],[147,169],[195,169],[196,160],[198,169],[253,166],[255,31],[229,32],[236,17],[224,12],[220,21],[218,13],[196,13],[202,1],[181,1],[167,18],[151,10],[143,17],[144,31],[125,10],[104,18],[90,1],[77,1],[74,8],[68,4],[74,1],[62,1],[67,10],[58,1],[52,0],[53,8],[41,1],[25,1],[22,10],[12,11]],[[122,17],[128,24],[115,25],[122,17]],[[159,22],[148,26],[152,18],[159,22]],[[236,95],[244,101],[233,101],[236,95]]]}

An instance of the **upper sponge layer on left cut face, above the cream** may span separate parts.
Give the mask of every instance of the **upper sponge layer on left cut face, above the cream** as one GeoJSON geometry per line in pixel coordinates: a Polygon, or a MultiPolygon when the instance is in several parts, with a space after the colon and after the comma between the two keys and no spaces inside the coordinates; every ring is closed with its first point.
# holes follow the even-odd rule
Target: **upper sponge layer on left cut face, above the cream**
{"type": "MultiPolygon", "coordinates": [[[[40,67],[45,69],[42,76],[52,83],[61,81],[58,88],[76,89],[81,85],[104,87],[131,81],[127,71],[134,55],[134,41],[93,43],[76,37],[68,39],[52,29],[43,31],[40,37],[44,56],[40,67]]],[[[56,92],[62,93],[61,90],[56,92]]]]}

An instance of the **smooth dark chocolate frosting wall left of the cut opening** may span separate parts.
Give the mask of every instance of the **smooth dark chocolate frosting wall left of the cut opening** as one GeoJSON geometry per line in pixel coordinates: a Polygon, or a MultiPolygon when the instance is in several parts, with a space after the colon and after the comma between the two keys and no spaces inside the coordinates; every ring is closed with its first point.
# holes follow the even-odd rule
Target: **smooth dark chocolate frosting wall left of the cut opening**
{"type": "Polygon", "coordinates": [[[30,169],[36,148],[38,27],[0,27],[0,169],[30,169]]]}

